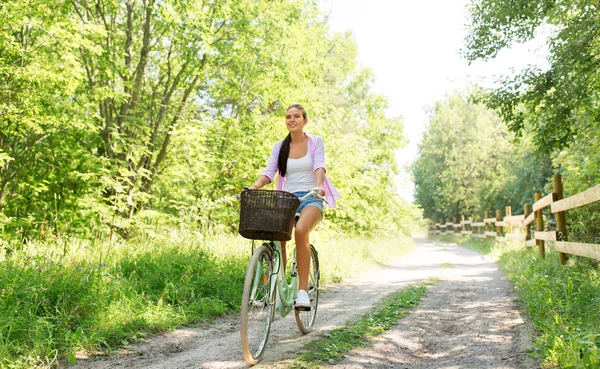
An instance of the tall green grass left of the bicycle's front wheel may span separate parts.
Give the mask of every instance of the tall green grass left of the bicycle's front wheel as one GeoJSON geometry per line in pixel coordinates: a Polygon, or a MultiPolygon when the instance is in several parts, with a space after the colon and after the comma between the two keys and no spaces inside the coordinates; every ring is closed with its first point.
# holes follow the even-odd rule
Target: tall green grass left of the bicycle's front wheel
{"type": "Polygon", "coordinates": [[[0,365],[127,344],[237,310],[245,258],[217,258],[192,237],[148,241],[120,250],[84,246],[81,259],[39,245],[31,256],[4,260],[0,365]]]}

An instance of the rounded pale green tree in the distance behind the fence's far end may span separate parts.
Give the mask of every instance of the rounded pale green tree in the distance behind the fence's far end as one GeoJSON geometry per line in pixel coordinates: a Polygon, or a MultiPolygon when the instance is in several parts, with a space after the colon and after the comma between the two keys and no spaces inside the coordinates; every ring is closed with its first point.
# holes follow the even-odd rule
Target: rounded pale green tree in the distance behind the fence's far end
{"type": "Polygon", "coordinates": [[[494,209],[506,180],[509,139],[495,114],[458,93],[436,103],[412,169],[425,216],[441,221],[494,209]]]}

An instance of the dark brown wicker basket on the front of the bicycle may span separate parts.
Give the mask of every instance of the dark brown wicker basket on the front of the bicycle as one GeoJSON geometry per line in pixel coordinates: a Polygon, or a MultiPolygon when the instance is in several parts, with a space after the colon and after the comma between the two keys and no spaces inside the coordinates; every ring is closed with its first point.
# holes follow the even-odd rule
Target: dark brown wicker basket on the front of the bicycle
{"type": "Polygon", "coordinates": [[[288,241],[300,200],[285,191],[246,190],[241,194],[242,237],[253,240],[288,241]]]}

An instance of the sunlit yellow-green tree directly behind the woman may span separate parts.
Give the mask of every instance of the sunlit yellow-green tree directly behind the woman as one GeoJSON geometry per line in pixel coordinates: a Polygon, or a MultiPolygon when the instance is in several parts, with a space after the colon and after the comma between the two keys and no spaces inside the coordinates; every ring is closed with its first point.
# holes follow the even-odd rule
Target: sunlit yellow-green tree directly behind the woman
{"type": "Polygon", "coordinates": [[[404,144],[400,118],[385,117],[387,102],[370,91],[373,75],[358,67],[351,35],[329,36],[318,13],[301,14],[283,36],[231,56],[234,68],[211,89],[227,104],[210,115],[198,111],[197,124],[174,136],[175,155],[155,205],[202,227],[235,228],[235,206],[224,199],[256,179],[287,133],[285,108],[300,102],[308,109],[307,130],[325,138],[328,173],[342,192],[326,217],[330,226],[376,233],[409,223],[402,215],[413,213],[398,211],[410,206],[394,196],[392,177],[394,152],[404,144]]]}

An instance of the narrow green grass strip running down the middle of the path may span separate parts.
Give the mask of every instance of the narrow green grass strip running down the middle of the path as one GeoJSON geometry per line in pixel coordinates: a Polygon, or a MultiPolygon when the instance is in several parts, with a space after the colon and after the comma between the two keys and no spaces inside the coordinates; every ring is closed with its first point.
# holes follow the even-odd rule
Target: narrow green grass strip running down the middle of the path
{"type": "Polygon", "coordinates": [[[398,320],[408,315],[427,292],[431,281],[410,286],[383,298],[369,312],[355,322],[333,329],[304,347],[295,359],[281,362],[278,368],[312,369],[336,364],[350,350],[368,346],[373,337],[390,330],[398,320]]]}

